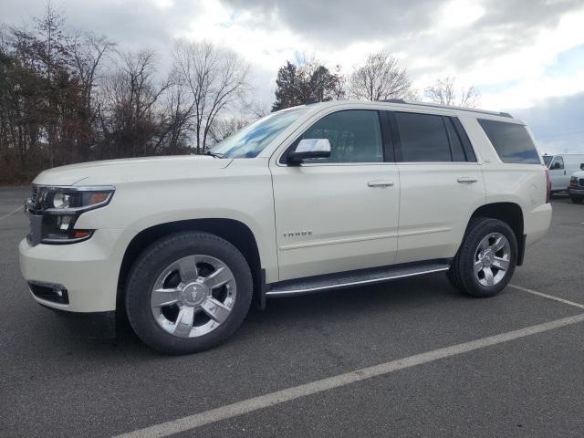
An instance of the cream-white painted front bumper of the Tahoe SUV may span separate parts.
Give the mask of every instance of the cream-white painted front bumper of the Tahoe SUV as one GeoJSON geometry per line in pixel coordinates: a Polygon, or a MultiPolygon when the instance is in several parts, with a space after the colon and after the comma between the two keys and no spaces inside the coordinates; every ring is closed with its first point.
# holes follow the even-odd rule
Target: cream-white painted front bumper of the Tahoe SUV
{"type": "Polygon", "coordinates": [[[115,311],[123,256],[116,248],[120,234],[120,230],[97,230],[89,240],[72,245],[31,245],[23,239],[18,249],[26,281],[67,289],[67,304],[32,294],[36,302],[68,312],[115,311]]]}

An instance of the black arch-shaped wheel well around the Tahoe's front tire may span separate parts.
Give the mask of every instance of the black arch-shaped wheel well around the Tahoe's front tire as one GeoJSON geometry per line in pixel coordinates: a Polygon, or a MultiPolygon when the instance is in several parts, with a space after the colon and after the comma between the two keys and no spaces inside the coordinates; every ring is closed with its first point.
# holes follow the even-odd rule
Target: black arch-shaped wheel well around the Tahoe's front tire
{"type": "Polygon", "coordinates": [[[246,224],[235,219],[208,218],[155,224],[141,230],[140,233],[135,235],[126,247],[122,257],[118,275],[116,308],[121,309],[124,307],[124,295],[128,274],[130,273],[131,266],[141,252],[162,236],[182,231],[210,233],[234,245],[245,256],[249,264],[254,279],[254,297],[260,299],[260,303],[263,304],[261,302],[261,298],[263,297],[261,292],[263,291],[266,280],[255,235],[246,224]]]}

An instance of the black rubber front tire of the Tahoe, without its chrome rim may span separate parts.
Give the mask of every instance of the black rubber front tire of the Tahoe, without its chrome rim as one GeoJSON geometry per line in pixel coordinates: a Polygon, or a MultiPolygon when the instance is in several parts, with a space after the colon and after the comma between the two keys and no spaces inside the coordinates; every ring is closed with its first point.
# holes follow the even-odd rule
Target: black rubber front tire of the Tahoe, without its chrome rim
{"type": "Polygon", "coordinates": [[[183,232],[153,242],[130,269],[126,312],[138,337],[153,349],[168,354],[188,354],[210,349],[229,338],[243,322],[253,294],[251,270],[244,255],[226,240],[208,233],[183,232]],[[162,270],[188,255],[210,255],[231,269],[237,294],[229,316],[213,331],[194,338],[179,338],[162,329],[152,315],[151,290],[162,270]]]}

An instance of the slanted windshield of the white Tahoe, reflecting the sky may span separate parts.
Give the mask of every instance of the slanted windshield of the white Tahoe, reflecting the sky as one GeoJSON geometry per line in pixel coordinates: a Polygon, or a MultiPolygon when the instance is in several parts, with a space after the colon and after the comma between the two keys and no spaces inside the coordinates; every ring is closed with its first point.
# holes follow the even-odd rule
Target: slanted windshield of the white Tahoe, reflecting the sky
{"type": "Polygon", "coordinates": [[[231,137],[217,143],[210,153],[221,158],[255,158],[282,130],[287,129],[309,110],[312,109],[301,107],[284,110],[256,120],[235,132],[231,137]]]}

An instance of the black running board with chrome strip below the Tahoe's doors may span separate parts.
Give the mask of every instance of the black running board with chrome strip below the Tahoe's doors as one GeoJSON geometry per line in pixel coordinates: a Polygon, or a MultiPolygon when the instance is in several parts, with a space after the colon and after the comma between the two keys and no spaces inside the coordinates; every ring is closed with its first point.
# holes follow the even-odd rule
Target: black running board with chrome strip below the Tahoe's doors
{"type": "Polygon", "coordinates": [[[449,268],[450,260],[442,259],[433,262],[373,267],[324,276],[308,276],[267,285],[266,297],[287,297],[342,287],[370,285],[407,276],[443,272],[449,268]]]}

